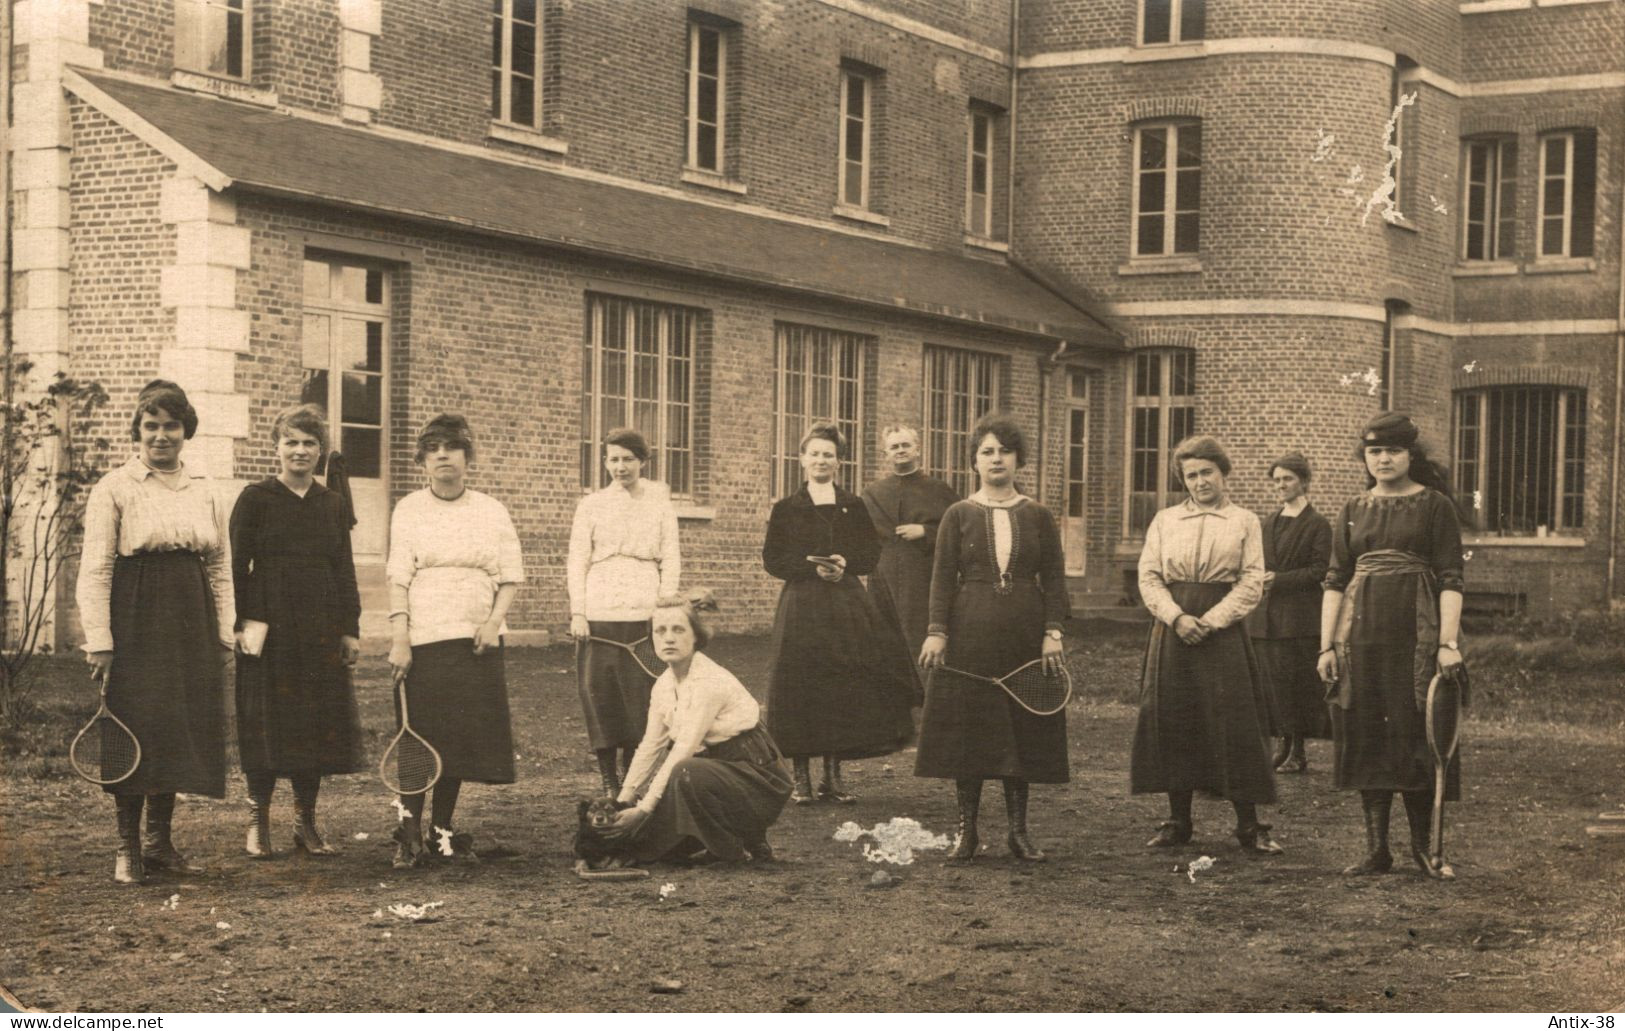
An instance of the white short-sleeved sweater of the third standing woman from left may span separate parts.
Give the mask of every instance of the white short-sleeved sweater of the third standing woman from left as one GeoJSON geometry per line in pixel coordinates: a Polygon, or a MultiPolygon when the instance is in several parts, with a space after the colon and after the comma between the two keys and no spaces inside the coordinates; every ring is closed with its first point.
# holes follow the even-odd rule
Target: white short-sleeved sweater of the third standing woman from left
{"type": "Polygon", "coordinates": [[[497,587],[525,581],[525,563],[500,501],[468,489],[444,501],[422,488],[390,516],[387,572],[406,589],[411,642],[434,644],[473,637],[491,618],[497,587]]]}

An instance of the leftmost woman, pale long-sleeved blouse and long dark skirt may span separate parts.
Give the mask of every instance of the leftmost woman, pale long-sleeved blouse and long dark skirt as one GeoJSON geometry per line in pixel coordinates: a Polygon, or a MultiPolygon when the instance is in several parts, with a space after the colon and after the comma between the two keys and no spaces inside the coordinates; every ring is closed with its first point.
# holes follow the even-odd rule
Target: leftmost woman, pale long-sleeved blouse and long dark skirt
{"type": "Polygon", "coordinates": [[[198,873],[171,841],[176,794],[226,795],[221,672],[237,615],[226,506],[180,460],[197,428],[185,390],[146,384],[130,420],[136,454],[91,488],[84,511],[84,650],[141,743],[135,772],[106,789],[119,808],[112,877],[122,885],[146,870],[198,873]]]}

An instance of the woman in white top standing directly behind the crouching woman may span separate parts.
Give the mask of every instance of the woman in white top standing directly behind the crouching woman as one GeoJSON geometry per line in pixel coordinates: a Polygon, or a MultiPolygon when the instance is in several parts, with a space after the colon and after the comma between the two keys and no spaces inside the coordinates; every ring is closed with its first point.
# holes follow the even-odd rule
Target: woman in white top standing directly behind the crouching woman
{"type": "Polygon", "coordinates": [[[567,584],[575,685],[604,794],[611,797],[621,790],[621,769],[630,764],[644,737],[655,680],[626,649],[588,637],[626,644],[647,637],[655,598],[676,594],[681,576],[671,491],[644,478],[645,462],[644,434],[611,429],[604,437],[609,486],[582,498],[570,525],[567,584]]]}

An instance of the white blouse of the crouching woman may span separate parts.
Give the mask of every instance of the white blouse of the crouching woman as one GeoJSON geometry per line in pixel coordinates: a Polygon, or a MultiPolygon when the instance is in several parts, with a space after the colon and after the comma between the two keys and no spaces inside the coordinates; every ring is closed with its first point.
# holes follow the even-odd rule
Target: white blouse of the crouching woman
{"type": "Polygon", "coordinates": [[[681,683],[668,668],[650,691],[648,722],[632,766],[626,771],[621,802],[637,800],[637,808],[653,813],[678,763],[694,758],[707,745],[720,745],[751,730],[760,717],[760,706],[739,678],[707,659],[705,652],[694,652],[689,675],[681,683]],[[671,750],[655,771],[655,763],[668,745],[671,750]],[[648,781],[648,789],[637,798],[639,784],[652,771],[655,776],[648,781]]]}

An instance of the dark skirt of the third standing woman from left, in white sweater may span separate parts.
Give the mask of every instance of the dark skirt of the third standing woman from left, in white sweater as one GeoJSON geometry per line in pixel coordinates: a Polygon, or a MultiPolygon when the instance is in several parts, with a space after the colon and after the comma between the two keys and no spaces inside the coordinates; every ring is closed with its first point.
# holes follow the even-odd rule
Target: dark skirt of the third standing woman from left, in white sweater
{"type": "MultiPolygon", "coordinates": [[[[442,777],[514,782],[514,730],[500,646],[476,655],[473,637],[414,644],[406,704],[413,730],[440,753],[442,777]]],[[[398,696],[395,719],[400,720],[398,696]]]]}

